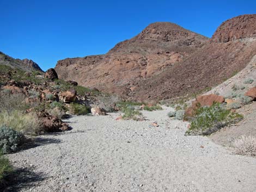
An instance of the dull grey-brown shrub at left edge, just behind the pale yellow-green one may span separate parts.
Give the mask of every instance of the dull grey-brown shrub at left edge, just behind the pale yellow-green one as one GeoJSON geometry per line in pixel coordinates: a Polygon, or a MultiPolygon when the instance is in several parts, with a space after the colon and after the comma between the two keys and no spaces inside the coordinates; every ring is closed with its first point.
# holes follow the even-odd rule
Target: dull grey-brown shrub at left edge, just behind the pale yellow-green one
{"type": "Polygon", "coordinates": [[[6,94],[1,92],[0,94],[0,111],[11,112],[13,110],[25,111],[31,108],[32,104],[25,102],[26,96],[24,94],[6,94]]]}

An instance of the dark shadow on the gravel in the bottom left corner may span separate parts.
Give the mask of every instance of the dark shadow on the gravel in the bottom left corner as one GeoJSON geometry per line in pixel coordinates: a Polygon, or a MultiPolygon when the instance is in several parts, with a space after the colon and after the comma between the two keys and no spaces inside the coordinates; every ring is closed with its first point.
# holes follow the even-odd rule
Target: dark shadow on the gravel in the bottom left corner
{"type": "Polygon", "coordinates": [[[42,173],[35,173],[28,168],[18,168],[0,183],[0,189],[3,192],[16,192],[21,189],[29,189],[38,185],[46,177],[42,173]]]}

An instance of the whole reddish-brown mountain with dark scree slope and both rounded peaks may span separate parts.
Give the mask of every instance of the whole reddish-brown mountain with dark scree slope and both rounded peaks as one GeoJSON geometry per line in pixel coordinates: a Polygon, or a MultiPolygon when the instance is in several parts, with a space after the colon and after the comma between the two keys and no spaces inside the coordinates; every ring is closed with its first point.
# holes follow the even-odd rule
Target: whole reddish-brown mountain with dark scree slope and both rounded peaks
{"type": "Polygon", "coordinates": [[[256,15],[221,24],[211,39],[157,22],[105,55],[58,61],[60,78],[132,100],[197,93],[241,71],[256,54],[256,15]]]}

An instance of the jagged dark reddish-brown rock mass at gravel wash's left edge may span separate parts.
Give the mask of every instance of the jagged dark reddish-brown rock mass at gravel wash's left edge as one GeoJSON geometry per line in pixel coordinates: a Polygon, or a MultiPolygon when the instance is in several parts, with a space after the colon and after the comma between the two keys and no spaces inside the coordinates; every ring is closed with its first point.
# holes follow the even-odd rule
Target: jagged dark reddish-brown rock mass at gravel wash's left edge
{"type": "Polygon", "coordinates": [[[68,123],[64,123],[56,116],[52,116],[47,112],[39,112],[36,114],[39,119],[40,132],[62,132],[69,129],[68,123]]]}

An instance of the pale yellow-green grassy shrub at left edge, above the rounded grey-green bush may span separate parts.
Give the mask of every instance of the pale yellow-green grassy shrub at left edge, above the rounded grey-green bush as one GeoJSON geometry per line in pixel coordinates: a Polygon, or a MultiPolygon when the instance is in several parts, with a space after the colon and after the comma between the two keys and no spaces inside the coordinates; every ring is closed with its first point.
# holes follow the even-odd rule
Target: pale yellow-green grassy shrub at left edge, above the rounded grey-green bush
{"type": "Polygon", "coordinates": [[[0,126],[7,126],[16,131],[34,134],[38,130],[38,118],[33,113],[22,113],[20,110],[13,110],[8,113],[3,111],[0,113],[0,126]]]}

